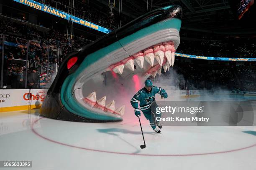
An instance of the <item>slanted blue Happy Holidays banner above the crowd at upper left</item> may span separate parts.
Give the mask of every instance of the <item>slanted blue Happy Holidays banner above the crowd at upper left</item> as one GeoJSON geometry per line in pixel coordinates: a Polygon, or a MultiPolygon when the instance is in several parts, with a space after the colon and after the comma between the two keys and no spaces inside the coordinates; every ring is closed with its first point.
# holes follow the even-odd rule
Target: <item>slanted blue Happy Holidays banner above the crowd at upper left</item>
{"type": "Polygon", "coordinates": [[[41,4],[39,2],[36,2],[34,0],[14,0],[14,1],[15,2],[19,2],[19,3],[23,4],[23,5],[27,5],[27,6],[33,7],[35,9],[37,9],[37,10],[44,11],[44,12],[49,13],[51,15],[55,15],[57,17],[64,18],[66,20],[71,20],[74,23],[78,23],[78,24],[84,25],[84,26],[92,28],[94,30],[98,30],[100,32],[104,32],[106,34],[111,32],[111,30],[109,30],[107,28],[104,28],[104,27],[101,27],[100,25],[96,25],[94,23],[90,23],[90,22],[88,22],[86,20],[83,20],[81,18],[75,17],[74,15],[70,15],[68,13],[65,13],[65,12],[61,11],[61,10],[57,10],[57,9],[55,9],[53,7],[49,7],[47,5],[41,4]]]}

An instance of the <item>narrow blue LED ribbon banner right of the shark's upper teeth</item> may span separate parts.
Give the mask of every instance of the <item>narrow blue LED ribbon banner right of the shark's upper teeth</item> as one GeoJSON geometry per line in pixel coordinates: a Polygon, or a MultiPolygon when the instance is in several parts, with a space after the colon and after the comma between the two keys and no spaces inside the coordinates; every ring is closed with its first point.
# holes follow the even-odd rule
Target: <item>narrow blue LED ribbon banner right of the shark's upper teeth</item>
{"type": "Polygon", "coordinates": [[[201,60],[256,61],[256,58],[205,57],[205,56],[198,56],[198,55],[181,54],[181,53],[178,53],[178,52],[175,52],[175,55],[179,56],[179,57],[194,58],[194,59],[201,59],[201,60]]]}

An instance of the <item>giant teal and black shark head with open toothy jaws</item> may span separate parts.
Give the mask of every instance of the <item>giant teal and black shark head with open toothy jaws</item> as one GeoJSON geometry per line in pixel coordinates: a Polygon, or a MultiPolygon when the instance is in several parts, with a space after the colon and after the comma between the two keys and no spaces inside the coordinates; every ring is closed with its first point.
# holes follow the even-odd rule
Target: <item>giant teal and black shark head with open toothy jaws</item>
{"type": "Polygon", "coordinates": [[[67,121],[122,121],[124,105],[115,108],[120,100],[106,105],[106,97],[97,100],[96,92],[97,96],[103,91],[112,93],[106,84],[116,79],[125,90],[125,81],[134,76],[146,79],[160,75],[162,67],[169,70],[180,42],[181,18],[178,5],[162,7],[70,53],[59,67],[40,114],[67,121]]]}

